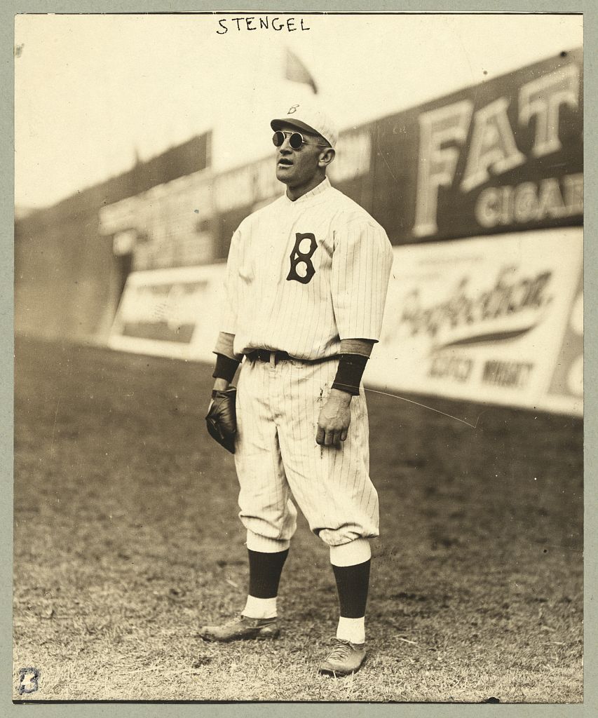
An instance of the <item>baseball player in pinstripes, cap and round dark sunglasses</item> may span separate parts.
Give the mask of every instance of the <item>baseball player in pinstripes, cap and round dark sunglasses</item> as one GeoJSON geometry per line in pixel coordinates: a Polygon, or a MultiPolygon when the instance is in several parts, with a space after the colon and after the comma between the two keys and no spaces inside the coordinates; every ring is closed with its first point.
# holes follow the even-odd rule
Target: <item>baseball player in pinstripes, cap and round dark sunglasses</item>
{"type": "Polygon", "coordinates": [[[340,603],[336,639],[319,670],[346,675],[365,659],[378,495],[361,378],[380,335],[392,251],[383,228],[326,177],[337,130],[322,109],[292,105],[271,127],[286,192],[233,235],[212,391],[215,402],[232,396],[243,360],[235,406],[228,415],[218,409],[213,423],[233,437],[249,590],[239,616],[200,635],[279,635],[276,595],[296,503],[330,547],[340,603]]]}

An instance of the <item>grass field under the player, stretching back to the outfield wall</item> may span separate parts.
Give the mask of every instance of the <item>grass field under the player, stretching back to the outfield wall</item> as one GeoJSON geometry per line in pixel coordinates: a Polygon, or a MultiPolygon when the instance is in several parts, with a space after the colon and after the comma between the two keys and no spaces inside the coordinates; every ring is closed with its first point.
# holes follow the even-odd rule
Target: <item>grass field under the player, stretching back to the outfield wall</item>
{"type": "Polygon", "coordinates": [[[337,620],[302,519],[274,642],[201,623],[246,595],[232,457],[205,432],[205,365],[17,341],[14,698],[582,700],[582,424],[370,394],[381,535],[368,663],[319,676],[337,620]]]}

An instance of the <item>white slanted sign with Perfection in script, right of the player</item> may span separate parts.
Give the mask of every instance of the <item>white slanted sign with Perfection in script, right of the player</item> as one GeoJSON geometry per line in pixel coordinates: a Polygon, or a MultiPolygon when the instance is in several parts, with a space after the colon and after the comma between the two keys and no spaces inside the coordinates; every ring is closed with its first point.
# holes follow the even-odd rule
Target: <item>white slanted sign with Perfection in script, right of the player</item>
{"type": "Polygon", "coordinates": [[[582,257],[579,228],[395,248],[368,383],[551,409],[582,257]]]}

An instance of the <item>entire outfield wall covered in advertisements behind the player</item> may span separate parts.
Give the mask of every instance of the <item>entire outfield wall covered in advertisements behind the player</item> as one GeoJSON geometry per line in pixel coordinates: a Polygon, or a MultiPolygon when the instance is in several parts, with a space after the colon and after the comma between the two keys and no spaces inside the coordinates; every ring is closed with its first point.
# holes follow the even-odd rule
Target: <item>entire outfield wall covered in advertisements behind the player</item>
{"type": "MultiPolygon", "coordinates": [[[[341,133],[332,184],[395,251],[371,386],[581,413],[582,88],[563,52],[341,133]]],[[[281,185],[195,144],[17,223],[17,331],[212,360],[230,237],[281,185]]]]}

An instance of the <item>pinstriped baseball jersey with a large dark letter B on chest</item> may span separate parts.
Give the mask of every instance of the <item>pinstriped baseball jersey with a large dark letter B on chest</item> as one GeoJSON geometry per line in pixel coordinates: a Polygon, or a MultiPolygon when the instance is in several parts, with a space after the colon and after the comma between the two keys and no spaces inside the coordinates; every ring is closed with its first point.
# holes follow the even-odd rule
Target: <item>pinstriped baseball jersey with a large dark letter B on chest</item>
{"type": "Polygon", "coordinates": [[[391,244],[383,228],[324,179],[243,220],[231,241],[221,329],[235,353],[284,350],[302,359],[340,340],[378,340],[391,244]]]}

